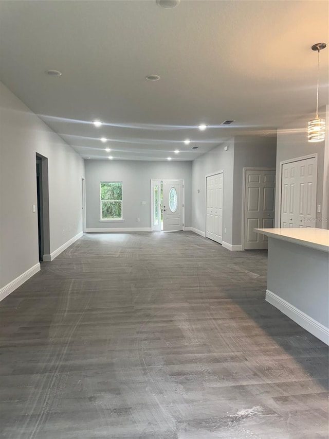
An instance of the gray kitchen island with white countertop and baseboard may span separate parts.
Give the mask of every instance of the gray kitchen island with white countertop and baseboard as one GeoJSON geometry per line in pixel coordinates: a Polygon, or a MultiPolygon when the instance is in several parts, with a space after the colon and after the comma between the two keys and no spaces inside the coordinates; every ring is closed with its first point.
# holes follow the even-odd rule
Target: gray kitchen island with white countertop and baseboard
{"type": "Polygon", "coordinates": [[[266,301],[329,345],[329,230],[255,232],[268,237],[266,301]]]}

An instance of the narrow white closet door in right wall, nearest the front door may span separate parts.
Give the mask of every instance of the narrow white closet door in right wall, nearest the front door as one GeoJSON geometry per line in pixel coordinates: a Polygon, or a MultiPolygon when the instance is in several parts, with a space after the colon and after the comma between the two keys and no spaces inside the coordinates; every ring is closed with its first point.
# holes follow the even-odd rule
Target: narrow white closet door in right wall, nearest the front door
{"type": "Polygon", "coordinates": [[[206,237],[223,242],[223,172],[206,179],[206,237]]]}

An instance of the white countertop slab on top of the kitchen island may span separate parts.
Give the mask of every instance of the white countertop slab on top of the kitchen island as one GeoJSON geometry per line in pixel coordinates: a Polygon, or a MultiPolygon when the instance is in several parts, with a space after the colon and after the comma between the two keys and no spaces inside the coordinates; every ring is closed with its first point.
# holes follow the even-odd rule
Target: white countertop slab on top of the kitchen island
{"type": "Polygon", "coordinates": [[[255,232],[277,238],[283,241],[294,242],[312,249],[329,253],[329,230],[305,227],[300,229],[254,229],[255,232]]]}

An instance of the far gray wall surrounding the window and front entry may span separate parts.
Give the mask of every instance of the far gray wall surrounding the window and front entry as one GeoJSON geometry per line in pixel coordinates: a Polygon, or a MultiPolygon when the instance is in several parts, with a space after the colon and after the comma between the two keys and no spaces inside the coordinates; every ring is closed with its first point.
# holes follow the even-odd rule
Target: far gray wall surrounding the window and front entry
{"type": "Polygon", "coordinates": [[[191,226],[191,162],[86,160],[85,169],[87,229],[151,227],[152,179],[185,179],[185,226],[191,226]],[[122,181],[124,222],[99,221],[101,181],[122,181]]]}

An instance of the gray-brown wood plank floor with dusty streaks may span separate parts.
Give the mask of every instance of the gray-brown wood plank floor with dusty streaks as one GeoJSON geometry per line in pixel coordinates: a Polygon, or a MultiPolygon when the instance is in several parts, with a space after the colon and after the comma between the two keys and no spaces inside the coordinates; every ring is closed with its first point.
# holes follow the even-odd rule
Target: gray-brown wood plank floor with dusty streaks
{"type": "Polygon", "coordinates": [[[85,235],[0,303],[0,437],[329,437],[328,349],[264,301],[266,258],[85,235]]]}

